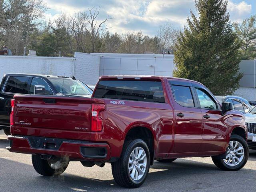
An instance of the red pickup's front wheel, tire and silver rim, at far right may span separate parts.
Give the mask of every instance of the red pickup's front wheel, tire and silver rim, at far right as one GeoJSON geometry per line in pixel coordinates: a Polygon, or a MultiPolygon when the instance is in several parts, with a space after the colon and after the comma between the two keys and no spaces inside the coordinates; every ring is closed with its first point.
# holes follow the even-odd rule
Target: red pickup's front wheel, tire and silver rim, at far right
{"type": "Polygon", "coordinates": [[[226,171],[237,171],[243,168],[249,156],[249,148],[244,138],[236,134],[231,135],[226,151],[225,159],[218,159],[216,156],[212,156],[214,164],[226,171]]]}

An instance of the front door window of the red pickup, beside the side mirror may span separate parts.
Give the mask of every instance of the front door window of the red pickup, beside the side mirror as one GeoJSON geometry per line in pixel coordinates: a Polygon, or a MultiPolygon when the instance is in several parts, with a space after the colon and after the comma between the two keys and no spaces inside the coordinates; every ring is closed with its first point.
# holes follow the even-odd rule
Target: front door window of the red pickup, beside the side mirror
{"type": "Polygon", "coordinates": [[[200,102],[201,108],[217,109],[216,102],[211,98],[210,94],[203,89],[195,88],[196,94],[200,102]]]}

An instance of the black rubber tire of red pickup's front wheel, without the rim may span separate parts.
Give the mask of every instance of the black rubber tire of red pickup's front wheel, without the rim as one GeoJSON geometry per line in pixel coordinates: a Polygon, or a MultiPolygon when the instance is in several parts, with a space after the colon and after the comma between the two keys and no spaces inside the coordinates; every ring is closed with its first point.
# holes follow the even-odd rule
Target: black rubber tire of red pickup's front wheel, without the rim
{"type": "Polygon", "coordinates": [[[244,140],[244,138],[242,138],[239,135],[233,134],[230,137],[230,141],[238,141],[240,142],[240,144],[242,144],[243,148],[244,148],[244,158],[243,160],[236,166],[229,166],[227,165],[223,159],[219,159],[216,156],[212,156],[212,161],[214,162],[214,164],[225,171],[237,171],[240,170],[244,167],[244,165],[246,164],[248,157],[249,157],[249,148],[248,148],[248,144],[246,143],[246,141],[244,140]]]}

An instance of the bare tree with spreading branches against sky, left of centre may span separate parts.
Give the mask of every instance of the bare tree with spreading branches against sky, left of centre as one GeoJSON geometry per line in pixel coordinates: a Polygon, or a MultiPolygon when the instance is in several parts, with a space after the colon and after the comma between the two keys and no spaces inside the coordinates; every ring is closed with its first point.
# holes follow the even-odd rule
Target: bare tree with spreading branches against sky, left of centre
{"type": "Polygon", "coordinates": [[[89,24],[89,27],[86,28],[86,31],[88,32],[91,40],[92,52],[94,52],[96,38],[101,32],[104,32],[109,28],[111,28],[111,27],[107,27],[106,22],[108,22],[108,20],[112,18],[107,16],[107,18],[104,21],[98,24],[98,21],[96,20],[96,18],[100,14],[100,7],[88,9],[88,11],[89,13],[88,13],[88,17],[86,17],[86,20],[89,24]]]}

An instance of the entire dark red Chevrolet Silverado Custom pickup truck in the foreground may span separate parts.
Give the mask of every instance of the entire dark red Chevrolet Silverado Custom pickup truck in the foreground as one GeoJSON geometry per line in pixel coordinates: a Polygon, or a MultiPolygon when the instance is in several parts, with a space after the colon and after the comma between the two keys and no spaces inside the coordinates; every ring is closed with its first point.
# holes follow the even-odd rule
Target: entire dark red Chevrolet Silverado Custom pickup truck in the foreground
{"type": "Polygon", "coordinates": [[[222,170],[248,160],[241,112],[202,84],[159,76],[102,76],[92,98],[15,95],[10,152],[32,154],[35,170],[52,176],[69,161],[112,165],[114,180],[140,186],[154,160],[211,156],[222,170]]]}

